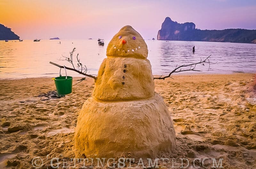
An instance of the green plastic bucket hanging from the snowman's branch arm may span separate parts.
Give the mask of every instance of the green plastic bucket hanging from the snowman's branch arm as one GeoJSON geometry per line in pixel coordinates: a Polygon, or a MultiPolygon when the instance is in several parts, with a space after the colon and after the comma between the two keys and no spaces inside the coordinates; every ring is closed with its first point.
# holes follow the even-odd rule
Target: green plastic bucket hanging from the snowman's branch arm
{"type": "MultiPolygon", "coordinates": [[[[64,66],[64,68],[65,68],[65,66],[64,66]]],[[[61,70],[61,68],[60,68],[60,70],[61,70]]],[[[66,68],[65,68],[65,71],[66,71],[66,68]]],[[[60,77],[55,77],[53,79],[55,82],[57,93],[59,95],[65,95],[65,94],[69,94],[72,92],[73,77],[67,76],[67,71],[66,71],[66,76],[61,76],[61,74],[60,74],[60,77]]]]}

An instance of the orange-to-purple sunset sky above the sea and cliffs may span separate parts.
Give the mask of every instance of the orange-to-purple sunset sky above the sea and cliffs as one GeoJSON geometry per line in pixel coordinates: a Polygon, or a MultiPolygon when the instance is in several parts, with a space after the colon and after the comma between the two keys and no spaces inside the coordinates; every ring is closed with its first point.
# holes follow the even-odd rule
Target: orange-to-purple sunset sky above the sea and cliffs
{"type": "Polygon", "coordinates": [[[0,23],[21,39],[110,39],[125,25],[152,39],[167,16],[199,29],[256,29],[256,0],[0,0],[0,23]]]}

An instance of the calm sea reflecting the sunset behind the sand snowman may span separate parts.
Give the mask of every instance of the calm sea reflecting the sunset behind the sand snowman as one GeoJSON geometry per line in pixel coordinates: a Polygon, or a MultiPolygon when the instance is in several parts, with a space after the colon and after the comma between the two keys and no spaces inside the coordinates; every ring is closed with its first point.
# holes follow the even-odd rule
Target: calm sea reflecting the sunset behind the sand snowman
{"type": "MultiPolygon", "coordinates": [[[[256,72],[256,44],[199,42],[199,41],[164,41],[145,40],[148,45],[148,59],[152,65],[154,75],[167,75],[176,65],[189,64],[210,57],[209,65],[197,65],[200,72],[184,73],[220,73],[256,72]],[[192,52],[195,46],[196,52],[192,52]]],[[[79,54],[80,61],[86,65],[88,74],[97,75],[100,64],[106,58],[105,46],[98,46],[97,40],[33,40],[5,42],[0,41],[0,78],[26,78],[26,77],[57,77],[60,68],[50,64],[72,67],[67,61],[60,61],[61,56],[69,56],[69,52],[76,48],[74,56],[79,54]],[[59,44],[59,42],[61,42],[59,44]]],[[[74,57],[74,59],[76,59],[74,57]]],[[[75,65],[77,62],[75,62],[75,65]]],[[[62,76],[65,71],[61,70],[62,76]]],[[[68,76],[81,76],[76,72],[67,70],[68,76]]],[[[178,74],[178,73],[176,73],[178,74]]]]}

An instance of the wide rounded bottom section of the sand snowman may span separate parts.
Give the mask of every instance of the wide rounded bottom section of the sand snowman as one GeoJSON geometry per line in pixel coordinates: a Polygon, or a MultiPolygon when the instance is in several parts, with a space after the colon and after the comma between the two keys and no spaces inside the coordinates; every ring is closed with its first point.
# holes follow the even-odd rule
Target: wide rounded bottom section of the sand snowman
{"type": "Polygon", "coordinates": [[[79,113],[76,158],[149,158],[173,150],[175,130],[164,100],[106,102],[89,98],[79,113]]]}

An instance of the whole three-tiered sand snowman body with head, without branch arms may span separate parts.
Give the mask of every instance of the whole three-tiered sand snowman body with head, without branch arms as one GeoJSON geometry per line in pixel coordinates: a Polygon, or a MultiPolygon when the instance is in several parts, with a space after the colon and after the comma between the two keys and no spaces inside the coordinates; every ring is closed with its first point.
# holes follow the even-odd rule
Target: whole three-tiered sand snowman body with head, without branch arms
{"type": "Polygon", "coordinates": [[[175,147],[172,119],[154,92],[147,56],[145,41],[131,26],[109,42],[92,97],[77,119],[77,158],[148,158],[175,147]]]}

